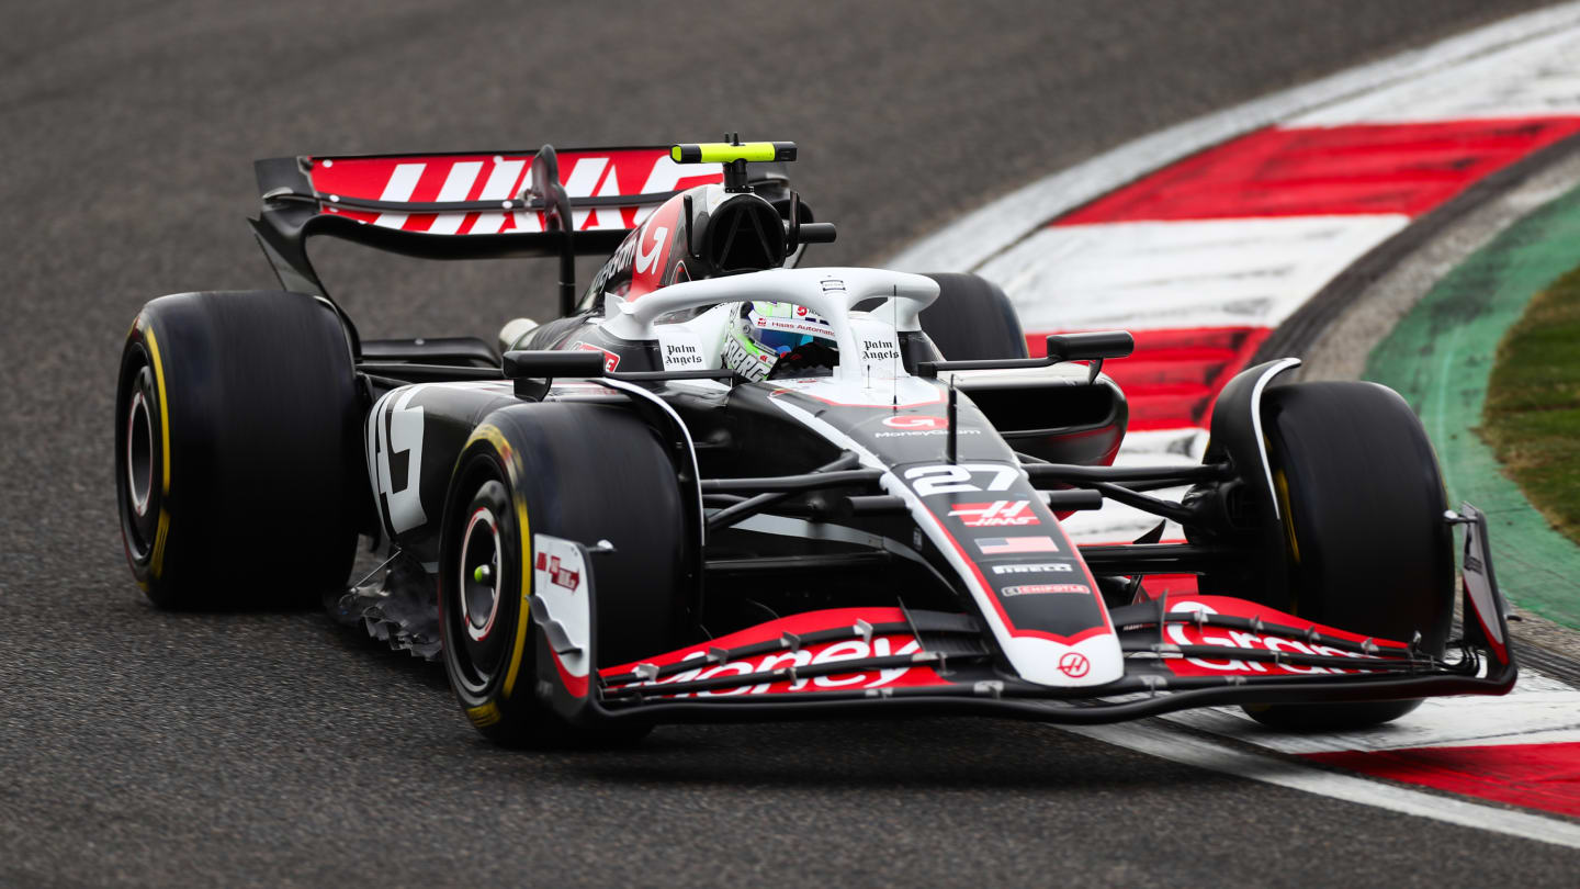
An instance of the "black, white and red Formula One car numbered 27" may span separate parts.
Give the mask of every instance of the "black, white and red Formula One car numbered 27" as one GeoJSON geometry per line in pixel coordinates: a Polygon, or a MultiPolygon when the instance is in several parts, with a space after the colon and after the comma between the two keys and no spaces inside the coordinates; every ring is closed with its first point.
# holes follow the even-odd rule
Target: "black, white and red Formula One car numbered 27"
{"type": "Polygon", "coordinates": [[[733,139],[259,161],[253,228],[284,289],[155,299],[126,340],[137,584],[166,607],[325,595],[442,658],[504,743],[1213,704],[1337,728],[1512,687],[1487,524],[1447,509],[1397,394],[1262,364],[1221,388],[1199,465],[1114,467],[1127,403],[1101,370],[1130,334],[1030,357],[981,278],[795,267],[834,228],[792,160],[733,139]],[[558,256],[564,316],[498,348],[363,340],[316,234],[558,256]],[[577,296],[581,253],[611,255],[577,296]],[[1060,522],[1104,501],[1158,528],[1073,543],[1060,522]],[[384,562],[352,581],[359,535],[384,562]],[[264,552],[281,573],[246,568],[264,552]],[[1149,581],[1171,574],[1194,585],[1149,581]]]}

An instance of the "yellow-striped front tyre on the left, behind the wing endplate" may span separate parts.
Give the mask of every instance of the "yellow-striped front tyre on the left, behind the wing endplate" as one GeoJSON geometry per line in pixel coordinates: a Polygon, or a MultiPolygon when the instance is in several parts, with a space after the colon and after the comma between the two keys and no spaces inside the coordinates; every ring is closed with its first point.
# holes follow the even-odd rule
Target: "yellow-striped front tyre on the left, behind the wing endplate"
{"type": "Polygon", "coordinates": [[[539,675],[555,655],[539,652],[531,620],[534,547],[542,535],[615,547],[589,563],[594,669],[673,650],[684,644],[686,555],[697,544],[683,495],[664,443],[624,408],[521,405],[479,426],[444,511],[439,631],[450,688],[483,736],[506,747],[607,747],[651,729],[572,724],[545,699],[572,683],[539,675]]]}

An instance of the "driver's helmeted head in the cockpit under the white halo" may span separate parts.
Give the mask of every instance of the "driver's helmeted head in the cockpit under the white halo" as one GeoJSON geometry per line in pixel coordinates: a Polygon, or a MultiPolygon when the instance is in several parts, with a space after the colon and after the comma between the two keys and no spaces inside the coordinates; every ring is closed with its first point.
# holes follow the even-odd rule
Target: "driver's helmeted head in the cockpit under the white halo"
{"type": "Polygon", "coordinates": [[[747,380],[826,376],[839,364],[834,329],[790,302],[743,302],[725,335],[724,362],[747,380]]]}

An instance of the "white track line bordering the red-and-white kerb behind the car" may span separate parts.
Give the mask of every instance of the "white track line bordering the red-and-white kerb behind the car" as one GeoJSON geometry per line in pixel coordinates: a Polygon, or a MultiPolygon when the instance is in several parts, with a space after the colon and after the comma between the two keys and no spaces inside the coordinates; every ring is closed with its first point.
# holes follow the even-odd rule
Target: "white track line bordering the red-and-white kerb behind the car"
{"type": "Polygon", "coordinates": [[[1580,25],[1580,2],[1563,3],[1187,120],[986,204],[916,240],[893,256],[888,267],[920,272],[973,270],[1054,217],[1185,155],[1297,114],[1575,25],[1580,25]]]}

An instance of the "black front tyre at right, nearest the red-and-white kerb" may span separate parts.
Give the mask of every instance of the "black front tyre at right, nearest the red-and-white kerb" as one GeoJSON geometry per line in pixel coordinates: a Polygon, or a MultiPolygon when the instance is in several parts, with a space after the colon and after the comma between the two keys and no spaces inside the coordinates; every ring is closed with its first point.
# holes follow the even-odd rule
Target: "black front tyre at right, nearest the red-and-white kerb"
{"type": "MultiPolygon", "coordinates": [[[[1443,655],[1454,612],[1454,538],[1431,443],[1409,405],[1375,383],[1300,383],[1264,395],[1291,611],[1443,655]]],[[[1269,726],[1386,723],[1420,701],[1247,707],[1269,726]]]]}

